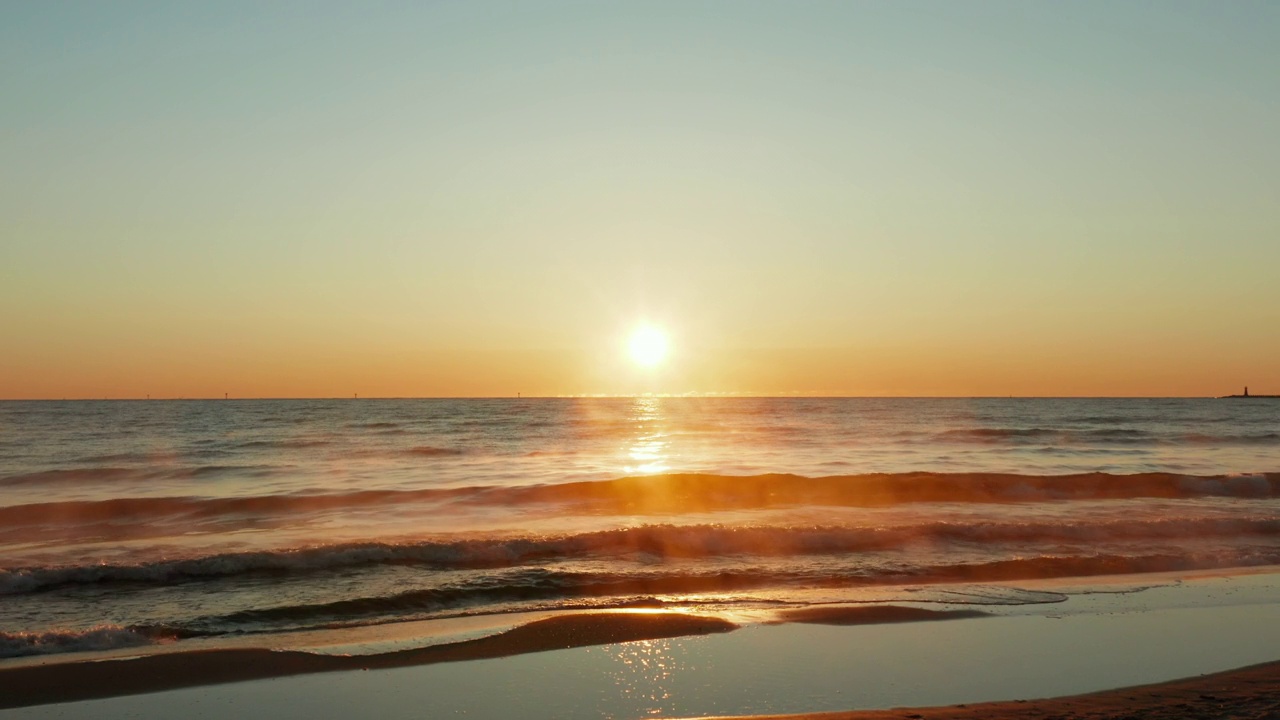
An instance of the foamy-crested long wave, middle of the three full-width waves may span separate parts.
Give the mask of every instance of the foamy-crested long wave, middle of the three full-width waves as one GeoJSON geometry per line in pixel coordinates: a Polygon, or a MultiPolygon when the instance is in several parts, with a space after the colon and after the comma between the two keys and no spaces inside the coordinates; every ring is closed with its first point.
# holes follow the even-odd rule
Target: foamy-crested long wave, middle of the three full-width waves
{"type": "Polygon", "coordinates": [[[718,560],[846,555],[913,543],[1018,546],[1164,542],[1280,536],[1280,519],[1188,518],[1146,521],[920,523],[891,528],[639,525],[614,530],[503,539],[347,543],[274,552],[220,553],[138,565],[70,565],[0,570],[0,594],[97,583],[166,585],[253,574],[305,574],[379,565],[433,570],[518,568],[573,560],[718,560]]]}

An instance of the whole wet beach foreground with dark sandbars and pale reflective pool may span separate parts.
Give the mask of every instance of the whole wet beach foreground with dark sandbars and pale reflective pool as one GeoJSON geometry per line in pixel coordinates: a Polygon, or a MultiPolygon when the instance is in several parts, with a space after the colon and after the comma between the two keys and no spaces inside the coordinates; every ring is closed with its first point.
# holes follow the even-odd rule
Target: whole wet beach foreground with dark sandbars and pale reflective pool
{"type": "MultiPolygon", "coordinates": [[[[326,648],[259,638],[27,657],[0,664],[0,708],[13,720],[179,710],[230,719],[264,707],[279,720],[422,708],[557,719],[1274,717],[1280,573],[1265,570],[1078,579],[1057,583],[1061,602],[1023,606],[543,614],[364,655],[338,633],[326,648]],[[1036,700],[1050,697],[1059,700],[1036,700]]],[[[408,625],[399,630],[421,632],[408,625]]]]}

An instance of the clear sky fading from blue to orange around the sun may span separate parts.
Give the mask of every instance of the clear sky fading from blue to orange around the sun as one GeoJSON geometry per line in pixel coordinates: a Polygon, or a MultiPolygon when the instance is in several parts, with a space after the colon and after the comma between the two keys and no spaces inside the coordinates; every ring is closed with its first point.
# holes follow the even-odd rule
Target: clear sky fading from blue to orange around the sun
{"type": "Polygon", "coordinates": [[[0,0],[0,397],[1280,393],[1277,37],[0,0]]]}

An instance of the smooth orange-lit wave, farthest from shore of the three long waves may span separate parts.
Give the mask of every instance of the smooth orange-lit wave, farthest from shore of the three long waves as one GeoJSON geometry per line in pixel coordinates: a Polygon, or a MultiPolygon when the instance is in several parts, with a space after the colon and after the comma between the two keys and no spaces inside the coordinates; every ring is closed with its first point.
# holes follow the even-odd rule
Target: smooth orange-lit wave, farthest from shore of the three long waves
{"type": "MultiPolygon", "coordinates": [[[[201,473],[242,473],[251,466],[205,466],[201,473]]],[[[259,468],[270,473],[270,468],[259,468]]],[[[278,518],[285,514],[376,505],[454,506],[554,505],[564,512],[685,515],[719,510],[788,506],[878,507],[913,502],[1009,503],[1143,497],[1280,497],[1280,473],[1252,475],[1018,475],[993,473],[902,473],[869,475],[667,474],[558,484],[379,489],[348,493],[251,497],[132,497],[0,507],[0,528],[90,523],[191,521],[224,516],[278,518]]]]}

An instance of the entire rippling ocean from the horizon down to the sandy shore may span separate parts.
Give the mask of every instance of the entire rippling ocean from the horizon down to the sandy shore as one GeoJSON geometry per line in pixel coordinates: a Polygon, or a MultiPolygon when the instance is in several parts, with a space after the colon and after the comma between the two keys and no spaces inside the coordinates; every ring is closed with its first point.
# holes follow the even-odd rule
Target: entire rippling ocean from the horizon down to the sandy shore
{"type": "Polygon", "coordinates": [[[1272,564],[1280,401],[0,402],[0,657],[1272,564]]]}

